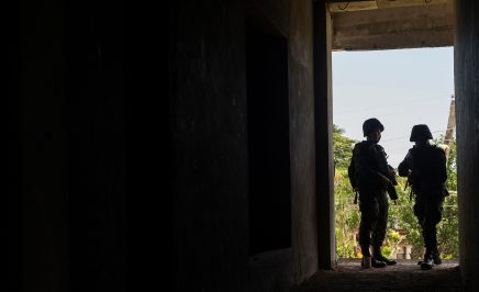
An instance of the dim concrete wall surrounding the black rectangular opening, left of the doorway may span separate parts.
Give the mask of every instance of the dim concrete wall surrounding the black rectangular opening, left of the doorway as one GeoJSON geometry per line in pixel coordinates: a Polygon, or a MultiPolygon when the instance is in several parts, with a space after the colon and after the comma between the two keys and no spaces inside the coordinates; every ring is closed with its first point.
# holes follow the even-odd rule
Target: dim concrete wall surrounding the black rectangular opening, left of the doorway
{"type": "Polygon", "coordinates": [[[318,268],[312,2],[183,0],[168,13],[175,289],[285,291],[318,268]],[[289,49],[291,247],[252,258],[246,19],[289,49]]]}

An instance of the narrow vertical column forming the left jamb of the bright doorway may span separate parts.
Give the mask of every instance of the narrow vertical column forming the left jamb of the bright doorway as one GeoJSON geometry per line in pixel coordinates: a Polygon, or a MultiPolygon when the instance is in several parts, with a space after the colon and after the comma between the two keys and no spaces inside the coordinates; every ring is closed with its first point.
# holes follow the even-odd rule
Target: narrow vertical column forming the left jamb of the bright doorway
{"type": "Polygon", "coordinates": [[[331,269],[335,265],[332,23],[324,2],[314,2],[313,13],[318,254],[319,268],[331,269]]]}

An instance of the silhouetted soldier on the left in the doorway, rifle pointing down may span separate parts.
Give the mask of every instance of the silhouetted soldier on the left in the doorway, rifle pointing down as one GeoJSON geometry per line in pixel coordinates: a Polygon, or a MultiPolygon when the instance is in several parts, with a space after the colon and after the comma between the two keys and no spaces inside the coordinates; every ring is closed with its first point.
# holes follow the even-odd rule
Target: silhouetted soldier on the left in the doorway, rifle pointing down
{"type": "Polygon", "coordinates": [[[385,126],[377,119],[366,120],[363,134],[366,141],[357,143],[348,169],[349,179],[355,190],[359,191],[359,246],[363,252],[361,266],[382,268],[394,265],[381,254],[388,224],[388,196],[398,199],[393,184],[397,184],[392,167],[388,165],[385,149],[378,145],[385,126]],[[372,257],[370,252],[372,246],[372,257]]]}

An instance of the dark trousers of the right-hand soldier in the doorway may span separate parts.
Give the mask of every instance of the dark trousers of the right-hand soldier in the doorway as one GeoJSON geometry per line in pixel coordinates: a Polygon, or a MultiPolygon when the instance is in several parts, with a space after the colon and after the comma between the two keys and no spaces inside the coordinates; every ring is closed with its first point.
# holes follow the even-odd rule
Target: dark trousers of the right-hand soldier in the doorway
{"type": "Polygon", "coordinates": [[[416,194],[414,215],[423,232],[424,246],[426,249],[437,248],[437,223],[443,215],[444,196],[416,194]]]}

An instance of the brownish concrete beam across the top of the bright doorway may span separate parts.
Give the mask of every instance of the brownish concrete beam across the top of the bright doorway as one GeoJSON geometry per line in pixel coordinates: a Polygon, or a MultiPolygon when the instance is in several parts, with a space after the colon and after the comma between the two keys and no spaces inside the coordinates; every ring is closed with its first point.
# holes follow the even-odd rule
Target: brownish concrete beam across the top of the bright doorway
{"type": "MultiPolygon", "coordinates": [[[[387,1],[400,5],[403,1],[387,1]]],[[[417,3],[417,2],[416,2],[417,3]]],[[[333,14],[333,49],[369,50],[452,46],[452,3],[394,7],[333,14]]],[[[344,4],[343,4],[344,5],[344,4]]],[[[337,7],[337,4],[336,4],[337,7]]]]}

